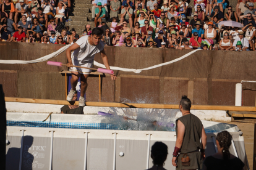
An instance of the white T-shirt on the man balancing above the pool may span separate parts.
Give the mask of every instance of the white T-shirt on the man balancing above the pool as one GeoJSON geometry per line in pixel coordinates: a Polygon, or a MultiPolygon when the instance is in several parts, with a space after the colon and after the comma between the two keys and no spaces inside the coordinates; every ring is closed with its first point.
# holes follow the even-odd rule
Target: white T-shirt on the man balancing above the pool
{"type": "Polygon", "coordinates": [[[92,46],[88,41],[89,37],[90,36],[82,36],[77,40],[77,42],[75,42],[80,46],[80,48],[76,49],[73,52],[73,55],[75,59],[79,60],[79,62],[83,63],[88,60],[93,60],[94,55],[103,51],[104,49],[105,43],[103,41],[100,41],[97,46],[92,46]]]}

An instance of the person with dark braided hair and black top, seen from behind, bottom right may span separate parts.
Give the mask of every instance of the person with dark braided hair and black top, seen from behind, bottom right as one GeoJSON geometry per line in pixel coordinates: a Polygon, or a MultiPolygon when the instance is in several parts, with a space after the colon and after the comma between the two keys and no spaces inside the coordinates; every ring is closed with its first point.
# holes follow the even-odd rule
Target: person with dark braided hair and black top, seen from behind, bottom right
{"type": "Polygon", "coordinates": [[[216,139],[218,152],[205,158],[205,161],[203,161],[203,170],[242,170],[244,168],[244,163],[229,152],[231,140],[232,136],[228,131],[218,133],[216,139]]]}

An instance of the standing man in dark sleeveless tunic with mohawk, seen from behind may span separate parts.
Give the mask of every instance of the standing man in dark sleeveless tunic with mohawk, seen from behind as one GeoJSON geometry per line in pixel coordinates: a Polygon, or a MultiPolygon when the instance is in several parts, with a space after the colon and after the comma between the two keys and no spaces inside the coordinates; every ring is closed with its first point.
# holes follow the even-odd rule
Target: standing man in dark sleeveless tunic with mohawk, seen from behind
{"type": "Polygon", "coordinates": [[[177,140],[172,160],[176,169],[202,169],[205,158],[207,135],[202,122],[190,113],[190,108],[191,101],[183,95],[179,102],[182,116],[176,120],[177,140]]]}

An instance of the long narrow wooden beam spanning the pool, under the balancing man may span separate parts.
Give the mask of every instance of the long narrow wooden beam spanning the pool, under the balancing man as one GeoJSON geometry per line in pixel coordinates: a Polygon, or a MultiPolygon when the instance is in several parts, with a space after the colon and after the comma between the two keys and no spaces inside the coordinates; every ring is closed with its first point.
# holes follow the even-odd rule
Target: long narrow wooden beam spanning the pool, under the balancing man
{"type": "MultiPolygon", "coordinates": [[[[6,97],[6,102],[25,102],[25,103],[45,103],[52,105],[69,105],[65,100],[49,99],[27,99],[17,97],[6,97]]],[[[75,102],[78,105],[79,102],[75,102]]],[[[113,102],[85,102],[87,106],[94,107],[131,107],[131,108],[167,108],[179,109],[179,105],[164,105],[151,103],[113,103],[113,102]]],[[[256,107],[236,107],[236,106],[218,106],[218,105],[192,105],[192,110],[231,110],[231,111],[256,111],[256,107]]]]}

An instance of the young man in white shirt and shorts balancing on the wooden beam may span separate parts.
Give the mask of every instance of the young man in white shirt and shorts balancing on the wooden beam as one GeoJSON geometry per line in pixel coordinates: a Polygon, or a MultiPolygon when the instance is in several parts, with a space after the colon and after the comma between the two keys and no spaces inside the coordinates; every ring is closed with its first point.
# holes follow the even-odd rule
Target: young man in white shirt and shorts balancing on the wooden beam
{"type": "MultiPolygon", "coordinates": [[[[81,91],[79,97],[79,106],[85,106],[85,91],[87,89],[87,78],[91,70],[85,68],[71,67],[72,65],[77,65],[81,67],[92,68],[93,59],[95,54],[100,52],[101,58],[106,69],[110,70],[108,57],[104,51],[105,43],[101,41],[101,36],[103,30],[101,28],[93,28],[92,36],[82,36],[79,38],[72,46],[67,48],[67,67],[70,67],[72,78],[70,79],[70,84],[72,89],[70,89],[67,95],[67,101],[72,101],[75,94],[75,87],[77,86],[77,81],[79,76],[81,76],[81,91]],[[71,58],[71,51],[74,51],[71,58]]],[[[111,79],[115,80],[116,75],[111,75],[111,79]]]]}

